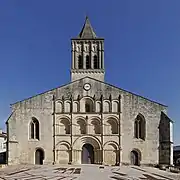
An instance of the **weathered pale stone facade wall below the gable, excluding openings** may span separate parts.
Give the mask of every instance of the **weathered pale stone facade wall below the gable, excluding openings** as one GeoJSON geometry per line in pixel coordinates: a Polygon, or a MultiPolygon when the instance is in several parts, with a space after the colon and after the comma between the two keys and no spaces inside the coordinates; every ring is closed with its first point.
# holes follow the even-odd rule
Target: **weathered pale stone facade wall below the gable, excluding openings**
{"type": "MultiPolygon", "coordinates": [[[[96,103],[94,103],[95,105],[96,103]]],[[[61,108],[61,106],[59,106],[61,108]]],[[[72,106],[73,107],[73,106],[72,106]]],[[[97,106],[96,106],[97,107],[97,106]]],[[[71,106],[70,106],[71,108],[71,106]]],[[[95,108],[97,110],[97,108],[95,108]]],[[[74,81],[68,85],[48,91],[46,93],[34,96],[24,101],[13,105],[14,115],[8,120],[9,124],[9,163],[32,163],[34,164],[35,150],[37,148],[44,149],[44,163],[52,163],[53,155],[57,163],[67,163],[70,156],[71,146],[77,141],[77,146],[83,145],[83,142],[96,143],[98,141],[103,149],[103,157],[106,163],[111,164],[112,159],[107,159],[107,155],[112,152],[112,157],[120,159],[121,163],[131,163],[131,151],[137,149],[141,153],[141,164],[157,164],[159,159],[159,123],[161,111],[166,113],[166,107],[156,102],[149,101],[146,98],[129,93],[122,89],[113,87],[106,83],[84,78],[74,81]],[[83,89],[85,83],[91,84],[91,89],[86,91],[83,89]],[[62,103],[62,111],[53,112],[53,95],[55,102],[62,103]],[[110,112],[83,112],[84,97],[88,97],[93,102],[103,102],[105,109],[105,101],[110,106],[110,112]],[[120,102],[119,102],[120,97],[120,102]],[[72,98],[72,99],[71,99],[72,98]],[[101,99],[103,98],[103,100],[101,99]],[[101,101],[102,100],[102,101],[101,101]],[[116,100],[119,105],[117,112],[112,112],[112,102],[116,100]],[[80,112],[68,112],[66,101],[76,101],[80,103],[80,112]],[[64,110],[67,112],[64,112],[64,110]],[[134,120],[141,113],[146,121],[146,137],[145,140],[134,138],[134,120]],[[40,140],[29,139],[29,123],[32,117],[38,119],[40,124],[40,140]],[[72,121],[72,135],[58,134],[55,129],[55,153],[53,153],[53,117],[55,123],[58,119],[69,118],[72,121]],[[77,118],[88,119],[88,123],[92,118],[100,119],[103,124],[103,135],[95,135],[93,127],[88,126],[88,133],[85,135],[79,134],[77,128],[77,118]],[[119,125],[118,134],[109,134],[108,126],[106,127],[107,118],[115,118],[119,125]],[[80,139],[80,136],[82,138],[80,139]],[[84,137],[84,139],[83,139],[84,137]],[[78,139],[79,138],[79,139],[78,139]],[[89,138],[89,139],[88,139],[89,138]],[[94,140],[92,140],[95,138],[94,140]],[[91,140],[90,140],[91,139],[91,140]],[[98,140],[99,139],[99,140],[98,140]],[[13,142],[11,142],[11,140],[13,142]],[[105,145],[106,144],[106,145],[105,145]],[[68,149],[69,148],[69,149],[68,149]],[[112,148],[114,148],[112,150],[112,148]],[[117,149],[116,149],[117,148],[117,149]],[[119,151],[120,149],[120,151],[119,151]],[[118,153],[116,152],[118,150],[118,153]],[[60,157],[64,158],[61,159],[60,157]]],[[[60,130],[62,132],[62,130],[60,130]]],[[[74,148],[72,146],[72,148],[74,148]]],[[[80,147],[82,148],[82,147],[80,147]]],[[[78,153],[80,153],[80,149],[78,153]]],[[[74,152],[74,151],[73,151],[74,152]]],[[[80,163],[80,154],[72,153],[74,163],[80,163]]],[[[73,159],[72,159],[73,160],[73,159]]]]}

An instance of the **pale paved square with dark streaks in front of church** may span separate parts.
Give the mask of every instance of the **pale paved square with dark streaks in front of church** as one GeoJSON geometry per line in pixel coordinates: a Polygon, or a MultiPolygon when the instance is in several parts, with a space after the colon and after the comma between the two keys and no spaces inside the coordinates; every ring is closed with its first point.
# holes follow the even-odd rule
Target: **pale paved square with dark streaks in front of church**
{"type": "Polygon", "coordinates": [[[150,167],[19,165],[0,169],[0,180],[180,180],[180,174],[150,167]]]}

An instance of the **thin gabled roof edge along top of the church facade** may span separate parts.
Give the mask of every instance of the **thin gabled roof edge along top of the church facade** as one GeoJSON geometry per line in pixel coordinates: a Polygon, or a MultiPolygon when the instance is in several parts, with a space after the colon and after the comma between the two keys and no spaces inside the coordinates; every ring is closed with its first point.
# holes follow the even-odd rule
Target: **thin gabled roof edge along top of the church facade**
{"type": "Polygon", "coordinates": [[[119,87],[114,86],[114,85],[112,85],[112,84],[110,84],[110,83],[106,83],[106,82],[103,82],[103,81],[97,80],[97,79],[95,79],[95,78],[89,77],[89,76],[83,77],[83,78],[81,78],[81,79],[77,79],[77,80],[75,80],[75,81],[69,82],[69,83],[64,84],[64,85],[62,85],[62,86],[58,86],[58,87],[56,87],[56,88],[52,88],[52,89],[50,89],[50,90],[44,91],[44,92],[39,93],[39,94],[36,94],[36,95],[34,95],[34,96],[31,96],[31,97],[29,97],[29,98],[25,98],[25,99],[23,99],[23,100],[21,100],[21,101],[16,101],[15,103],[11,104],[11,106],[12,106],[12,105],[15,105],[15,104],[17,104],[17,103],[23,102],[23,101],[25,101],[25,100],[31,99],[31,98],[33,98],[33,97],[36,97],[36,96],[39,96],[39,95],[43,95],[43,94],[45,94],[45,93],[47,93],[47,92],[49,92],[49,91],[53,91],[53,90],[55,90],[55,89],[57,89],[57,88],[62,88],[62,87],[65,87],[65,86],[67,86],[67,85],[73,84],[73,83],[75,83],[75,82],[77,82],[77,81],[80,81],[80,80],[82,80],[82,79],[85,79],[85,78],[89,78],[89,79],[92,79],[92,80],[98,81],[98,82],[100,82],[100,83],[103,83],[103,84],[106,84],[106,85],[112,86],[112,87],[114,87],[114,88],[116,88],[116,89],[119,89],[119,90],[121,90],[121,91],[125,91],[125,92],[127,92],[127,93],[132,94],[132,95],[135,95],[135,96],[141,97],[141,98],[143,98],[143,99],[146,99],[146,100],[148,100],[148,101],[150,101],[150,102],[153,102],[153,103],[159,104],[159,105],[164,106],[164,107],[168,107],[167,105],[164,105],[164,104],[159,103],[159,102],[157,102],[157,101],[154,101],[154,100],[148,99],[148,98],[146,98],[146,97],[144,97],[144,96],[138,95],[138,94],[136,94],[136,93],[130,92],[130,91],[128,91],[128,90],[125,90],[125,89],[119,88],[119,87]]]}

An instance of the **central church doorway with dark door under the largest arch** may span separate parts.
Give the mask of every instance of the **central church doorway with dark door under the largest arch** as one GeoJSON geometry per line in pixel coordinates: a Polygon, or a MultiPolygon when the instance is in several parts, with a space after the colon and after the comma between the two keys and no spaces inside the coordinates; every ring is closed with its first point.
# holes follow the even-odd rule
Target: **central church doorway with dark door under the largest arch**
{"type": "Polygon", "coordinates": [[[94,147],[91,144],[83,145],[81,163],[94,164],[94,147]]]}

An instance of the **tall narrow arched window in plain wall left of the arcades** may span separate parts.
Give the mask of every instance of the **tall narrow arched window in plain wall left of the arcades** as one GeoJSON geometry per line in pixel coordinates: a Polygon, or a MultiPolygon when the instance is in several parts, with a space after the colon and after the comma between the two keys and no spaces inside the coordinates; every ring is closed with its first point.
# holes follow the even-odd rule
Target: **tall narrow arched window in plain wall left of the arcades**
{"type": "Polygon", "coordinates": [[[34,117],[30,123],[30,138],[39,140],[39,121],[34,117]]]}

